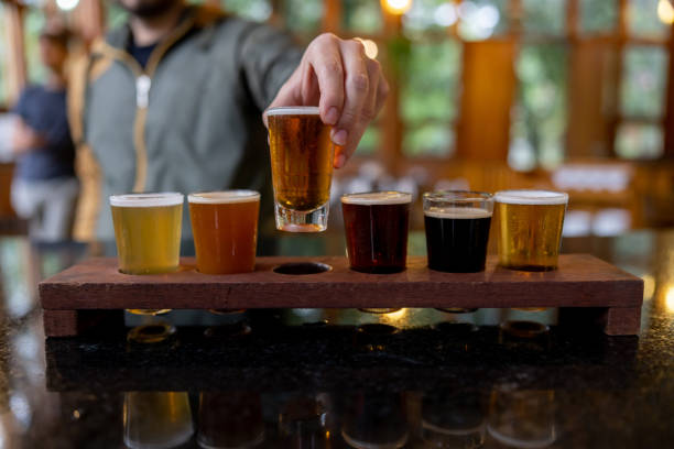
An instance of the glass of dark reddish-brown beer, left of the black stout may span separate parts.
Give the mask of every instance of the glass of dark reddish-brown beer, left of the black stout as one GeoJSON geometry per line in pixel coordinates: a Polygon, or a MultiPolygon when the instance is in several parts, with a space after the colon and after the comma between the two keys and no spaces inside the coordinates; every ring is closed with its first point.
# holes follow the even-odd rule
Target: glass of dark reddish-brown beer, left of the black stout
{"type": "Polygon", "coordinates": [[[407,223],[412,195],[401,191],[341,197],[347,254],[352,270],[398,273],[407,260],[407,223]]]}

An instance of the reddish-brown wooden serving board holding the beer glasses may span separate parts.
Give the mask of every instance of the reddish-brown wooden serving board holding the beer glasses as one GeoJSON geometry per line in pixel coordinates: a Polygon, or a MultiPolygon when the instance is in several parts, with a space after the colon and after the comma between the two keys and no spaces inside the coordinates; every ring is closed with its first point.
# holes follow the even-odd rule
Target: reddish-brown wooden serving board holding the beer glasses
{"type": "Polygon", "coordinates": [[[256,271],[207,275],[194,259],[161,275],[119,273],[116,259],[90,259],[40,284],[46,336],[78,335],[104,310],[126,308],[239,309],[350,307],[570,307],[601,309],[609,335],[639,333],[643,282],[588,254],[559,258],[559,269],[532,273],[497,266],[481,273],[428,270],[409,258],[407,270],[365,274],[346,258],[258,258],[256,271]],[[274,272],[289,263],[323,263],[325,273],[274,272]]]}

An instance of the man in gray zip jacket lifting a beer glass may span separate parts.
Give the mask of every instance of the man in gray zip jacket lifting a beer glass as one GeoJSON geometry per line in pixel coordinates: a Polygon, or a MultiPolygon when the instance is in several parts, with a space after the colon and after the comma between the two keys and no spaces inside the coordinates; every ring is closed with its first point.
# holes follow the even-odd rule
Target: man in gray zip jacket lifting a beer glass
{"type": "Polygon", "coordinates": [[[271,217],[262,111],[319,106],[341,167],[387,96],[356,41],[324,34],[302,53],[269,25],[184,0],[119,2],[129,23],[94,46],[73,91],[74,135],[86,143],[80,238],[112,239],[107,198],[127,191],[252,188],[271,217]]]}

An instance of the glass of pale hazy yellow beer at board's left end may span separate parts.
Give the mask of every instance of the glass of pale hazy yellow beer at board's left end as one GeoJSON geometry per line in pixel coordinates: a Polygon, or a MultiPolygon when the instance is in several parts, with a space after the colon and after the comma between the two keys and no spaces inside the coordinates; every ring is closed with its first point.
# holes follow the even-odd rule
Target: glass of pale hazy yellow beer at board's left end
{"type": "Polygon", "coordinates": [[[181,253],[183,195],[176,193],[110,197],[119,271],[159,274],[176,271],[181,253]]]}

